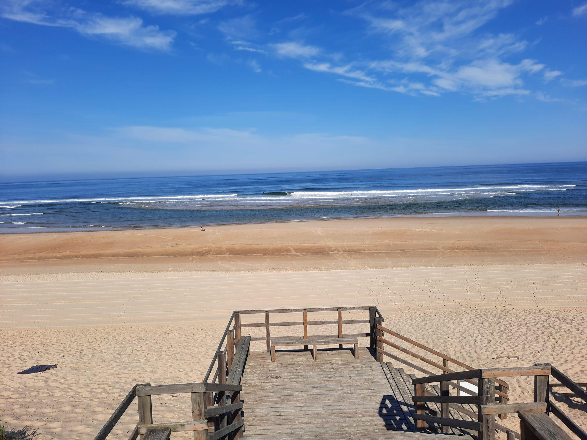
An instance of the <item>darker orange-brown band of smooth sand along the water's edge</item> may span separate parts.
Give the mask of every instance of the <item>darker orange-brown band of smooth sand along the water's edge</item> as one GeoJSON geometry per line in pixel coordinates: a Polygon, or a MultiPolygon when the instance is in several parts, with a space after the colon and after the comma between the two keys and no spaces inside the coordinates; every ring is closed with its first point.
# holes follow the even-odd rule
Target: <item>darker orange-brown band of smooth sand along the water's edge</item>
{"type": "Polygon", "coordinates": [[[0,274],[587,262],[587,217],[390,217],[0,235],[0,274]]]}

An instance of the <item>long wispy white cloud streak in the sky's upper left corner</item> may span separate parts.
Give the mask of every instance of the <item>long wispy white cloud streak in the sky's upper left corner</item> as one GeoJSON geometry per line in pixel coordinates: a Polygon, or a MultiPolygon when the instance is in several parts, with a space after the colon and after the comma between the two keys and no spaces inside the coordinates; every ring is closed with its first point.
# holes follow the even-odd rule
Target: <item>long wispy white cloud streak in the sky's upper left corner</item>
{"type": "Polygon", "coordinates": [[[70,7],[56,7],[42,0],[12,0],[2,8],[2,16],[14,21],[43,26],[72,28],[87,37],[103,38],[137,49],[171,49],[175,31],[145,26],[137,17],[114,17],[70,7]],[[51,7],[50,7],[51,6],[51,7]]]}

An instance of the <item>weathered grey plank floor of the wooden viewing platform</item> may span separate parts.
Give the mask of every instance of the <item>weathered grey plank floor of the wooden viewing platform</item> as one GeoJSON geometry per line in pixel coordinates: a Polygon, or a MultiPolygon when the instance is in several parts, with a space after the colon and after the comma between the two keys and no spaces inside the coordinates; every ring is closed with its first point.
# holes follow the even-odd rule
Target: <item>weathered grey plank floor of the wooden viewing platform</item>
{"type": "Polygon", "coordinates": [[[242,377],[245,438],[434,438],[415,431],[413,386],[401,373],[363,347],[358,360],[352,350],[319,350],[317,361],[295,350],[278,351],[272,363],[266,351],[252,351],[242,377]]]}

